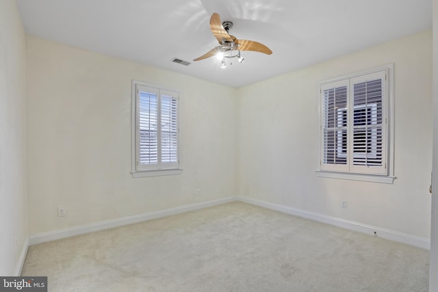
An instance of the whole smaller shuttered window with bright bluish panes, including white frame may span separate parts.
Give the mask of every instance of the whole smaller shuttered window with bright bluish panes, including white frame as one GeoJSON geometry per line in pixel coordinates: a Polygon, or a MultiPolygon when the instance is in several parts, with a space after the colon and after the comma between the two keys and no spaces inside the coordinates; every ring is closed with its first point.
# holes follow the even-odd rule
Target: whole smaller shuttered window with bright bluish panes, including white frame
{"type": "Polygon", "coordinates": [[[133,81],[134,177],[179,174],[179,93],[133,81]]]}

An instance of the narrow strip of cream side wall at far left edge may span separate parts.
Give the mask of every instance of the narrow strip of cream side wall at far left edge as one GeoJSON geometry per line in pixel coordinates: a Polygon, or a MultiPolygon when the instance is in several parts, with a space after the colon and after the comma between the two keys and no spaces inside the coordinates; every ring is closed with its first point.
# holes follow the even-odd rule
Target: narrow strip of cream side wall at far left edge
{"type": "Polygon", "coordinates": [[[0,275],[27,248],[25,35],[14,0],[0,1],[0,275]]]}

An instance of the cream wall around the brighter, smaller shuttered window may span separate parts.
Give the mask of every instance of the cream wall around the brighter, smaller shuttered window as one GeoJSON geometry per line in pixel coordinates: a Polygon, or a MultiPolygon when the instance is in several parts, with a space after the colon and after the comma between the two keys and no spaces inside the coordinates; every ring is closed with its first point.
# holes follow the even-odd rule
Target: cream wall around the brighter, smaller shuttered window
{"type": "Polygon", "coordinates": [[[235,89],[31,36],[27,80],[30,235],[236,195],[235,89]],[[181,175],[131,177],[132,79],[180,90],[181,175]]]}

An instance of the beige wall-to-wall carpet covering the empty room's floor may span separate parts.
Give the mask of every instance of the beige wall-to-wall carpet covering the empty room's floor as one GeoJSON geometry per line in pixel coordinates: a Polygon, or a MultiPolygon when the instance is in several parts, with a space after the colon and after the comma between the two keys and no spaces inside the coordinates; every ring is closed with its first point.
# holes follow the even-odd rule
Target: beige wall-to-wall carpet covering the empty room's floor
{"type": "Polygon", "coordinates": [[[49,291],[428,291],[428,251],[232,202],[29,248],[49,291]]]}

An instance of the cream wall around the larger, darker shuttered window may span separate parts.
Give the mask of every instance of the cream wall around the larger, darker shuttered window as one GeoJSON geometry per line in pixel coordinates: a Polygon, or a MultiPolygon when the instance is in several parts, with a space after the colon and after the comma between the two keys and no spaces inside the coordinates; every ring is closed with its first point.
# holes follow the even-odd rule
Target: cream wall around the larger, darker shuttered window
{"type": "Polygon", "coordinates": [[[426,31],[240,88],[239,194],[429,239],[431,64],[426,31]],[[389,63],[395,68],[394,184],[318,178],[320,81],[389,63]]]}

